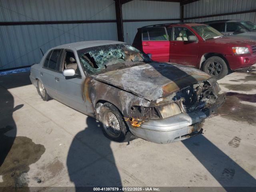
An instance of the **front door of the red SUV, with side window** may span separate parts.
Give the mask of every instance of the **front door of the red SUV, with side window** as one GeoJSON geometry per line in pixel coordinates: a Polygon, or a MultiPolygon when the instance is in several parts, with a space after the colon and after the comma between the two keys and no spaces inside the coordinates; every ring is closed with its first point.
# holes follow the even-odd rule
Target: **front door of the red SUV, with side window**
{"type": "Polygon", "coordinates": [[[170,62],[196,66],[198,42],[188,41],[188,36],[195,36],[186,27],[173,27],[170,40],[170,62]]]}

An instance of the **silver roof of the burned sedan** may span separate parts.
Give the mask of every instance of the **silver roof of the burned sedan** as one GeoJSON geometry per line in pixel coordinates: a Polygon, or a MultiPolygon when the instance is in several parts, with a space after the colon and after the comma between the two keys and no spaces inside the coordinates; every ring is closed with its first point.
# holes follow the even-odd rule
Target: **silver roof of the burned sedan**
{"type": "Polygon", "coordinates": [[[125,44],[125,43],[120,41],[109,41],[109,40],[81,41],[81,42],[74,42],[74,43],[59,45],[52,49],[74,48],[76,50],[80,50],[80,49],[89,48],[89,47],[112,45],[112,44],[125,44]]]}

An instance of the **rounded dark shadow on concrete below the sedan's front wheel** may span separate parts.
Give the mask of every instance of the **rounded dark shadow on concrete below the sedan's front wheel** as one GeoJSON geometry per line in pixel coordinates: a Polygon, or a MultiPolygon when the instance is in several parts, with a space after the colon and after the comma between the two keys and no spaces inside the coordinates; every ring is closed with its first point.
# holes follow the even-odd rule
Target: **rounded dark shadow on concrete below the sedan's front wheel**
{"type": "Polygon", "coordinates": [[[76,191],[90,187],[121,187],[111,140],[102,134],[101,124],[92,117],[86,118],[87,127],[78,132],[70,145],[67,167],[70,181],[76,191]]]}

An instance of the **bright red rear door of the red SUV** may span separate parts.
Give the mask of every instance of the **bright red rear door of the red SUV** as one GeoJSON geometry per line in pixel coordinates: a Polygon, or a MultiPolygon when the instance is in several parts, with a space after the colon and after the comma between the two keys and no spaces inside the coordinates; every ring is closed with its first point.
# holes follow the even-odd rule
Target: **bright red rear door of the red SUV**
{"type": "Polygon", "coordinates": [[[170,41],[165,27],[142,28],[142,48],[151,59],[158,62],[169,62],[170,41]]]}

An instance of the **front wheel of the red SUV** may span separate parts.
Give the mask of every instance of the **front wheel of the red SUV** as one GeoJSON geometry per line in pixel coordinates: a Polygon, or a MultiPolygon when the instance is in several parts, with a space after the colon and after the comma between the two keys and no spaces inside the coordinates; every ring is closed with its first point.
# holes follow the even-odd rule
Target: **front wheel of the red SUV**
{"type": "Polygon", "coordinates": [[[221,79],[228,74],[228,66],[222,58],[212,56],[204,62],[203,71],[213,78],[221,79]]]}

